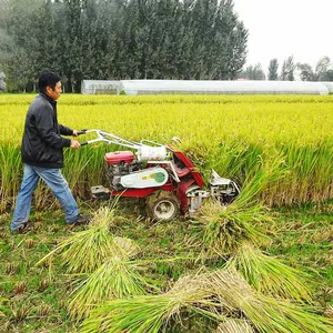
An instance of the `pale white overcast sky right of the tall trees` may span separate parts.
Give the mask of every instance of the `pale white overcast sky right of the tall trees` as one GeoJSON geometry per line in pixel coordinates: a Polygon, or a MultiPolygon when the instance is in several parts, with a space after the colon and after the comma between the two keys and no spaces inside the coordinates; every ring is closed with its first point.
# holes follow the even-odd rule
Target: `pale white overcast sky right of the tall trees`
{"type": "Polygon", "coordinates": [[[234,9],[249,30],[246,64],[260,62],[266,72],[273,58],[280,68],[289,56],[333,62],[333,0],[234,0],[234,9]]]}

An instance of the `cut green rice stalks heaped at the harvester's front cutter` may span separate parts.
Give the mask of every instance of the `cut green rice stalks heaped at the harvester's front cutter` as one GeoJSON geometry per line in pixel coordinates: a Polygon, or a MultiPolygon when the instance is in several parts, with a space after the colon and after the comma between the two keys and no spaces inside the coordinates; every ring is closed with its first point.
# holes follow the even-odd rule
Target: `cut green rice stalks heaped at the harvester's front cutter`
{"type": "Polygon", "coordinates": [[[202,254],[225,256],[236,251],[244,240],[253,243],[263,240],[264,235],[260,232],[259,224],[272,222],[272,218],[261,204],[260,194],[268,183],[283,178],[283,173],[279,172],[281,164],[283,159],[279,155],[272,155],[263,162],[255,153],[248,165],[250,171],[239,196],[226,206],[213,201],[202,208],[199,218],[203,228],[202,254]]]}

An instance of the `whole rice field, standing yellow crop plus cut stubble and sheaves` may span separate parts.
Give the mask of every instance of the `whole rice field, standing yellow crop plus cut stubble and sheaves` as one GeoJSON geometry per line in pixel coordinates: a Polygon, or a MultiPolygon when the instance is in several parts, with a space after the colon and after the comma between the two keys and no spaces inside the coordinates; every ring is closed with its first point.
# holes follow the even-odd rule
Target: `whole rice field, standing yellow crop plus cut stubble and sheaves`
{"type": "Polygon", "coordinates": [[[67,150],[63,170],[91,223],[67,230],[41,183],[33,230],[13,236],[33,98],[0,95],[4,332],[331,332],[333,97],[63,94],[60,123],[134,141],[179,137],[206,180],[213,168],[241,194],[160,223],[129,200],[101,208],[89,189],[104,182],[104,153],[122,148],[97,143],[67,150]]]}

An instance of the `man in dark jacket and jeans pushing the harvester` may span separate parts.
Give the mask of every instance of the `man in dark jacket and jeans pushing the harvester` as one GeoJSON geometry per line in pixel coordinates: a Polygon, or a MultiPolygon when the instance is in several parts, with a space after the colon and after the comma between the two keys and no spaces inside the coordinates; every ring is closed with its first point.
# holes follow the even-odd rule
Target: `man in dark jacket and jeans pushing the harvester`
{"type": "Polygon", "coordinates": [[[29,228],[32,192],[40,178],[60,201],[69,225],[89,222],[87,216],[80,215],[78,204],[61,174],[63,148],[79,149],[80,142],[61,137],[78,137],[78,131],[58,123],[57,100],[62,92],[60,77],[44,71],[38,87],[40,93],[32,101],[26,118],[21,147],[24,173],[10,224],[10,229],[18,233],[29,228]]]}

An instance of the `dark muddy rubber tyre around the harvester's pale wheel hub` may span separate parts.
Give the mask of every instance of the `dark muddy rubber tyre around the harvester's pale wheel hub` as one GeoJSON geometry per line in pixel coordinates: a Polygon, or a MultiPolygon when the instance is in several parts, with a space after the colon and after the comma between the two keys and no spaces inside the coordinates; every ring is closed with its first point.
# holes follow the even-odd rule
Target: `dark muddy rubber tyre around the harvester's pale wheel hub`
{"type": "Polygon", "coordinates": [[[148,196],[145,202],[145,213],[153,221],[171,221],[180,214],[180,202],[178,198],[169,191],[159,191],[148,196]],[[172,214],[165,219],[155,214],[155,210],[163,201],[173,206],[172,214]]]}

